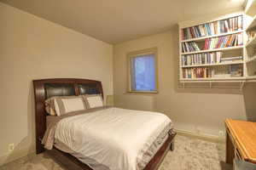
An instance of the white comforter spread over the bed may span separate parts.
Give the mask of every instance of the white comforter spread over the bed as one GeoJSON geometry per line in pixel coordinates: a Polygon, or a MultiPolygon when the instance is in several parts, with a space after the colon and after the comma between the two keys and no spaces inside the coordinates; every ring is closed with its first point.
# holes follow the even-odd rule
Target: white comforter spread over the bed
{"type": "Polygon", "coordinates": [[[94,169],[137,170],[142,150],[170,123],[167,116],[156,112],[108,108],[62,119],[55,139],[94,169]]]}

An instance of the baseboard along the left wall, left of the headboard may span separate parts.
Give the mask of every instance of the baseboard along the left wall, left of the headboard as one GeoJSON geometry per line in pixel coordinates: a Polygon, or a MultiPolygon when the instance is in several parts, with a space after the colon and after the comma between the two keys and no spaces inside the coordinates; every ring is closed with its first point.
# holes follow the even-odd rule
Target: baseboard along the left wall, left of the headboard
{"type": "Polygon", "coordinates": [[[14,150],[12,152],[9,152],[9,154],[5,154],[3,156],[0,156],[0,166],[3,166],[4,164],[7,164],[11,161],[15,161],[21,157],[28,156],[35,154],[34,147],[28,147],[25,149],[20,149],[20,150],[14,150]]]}

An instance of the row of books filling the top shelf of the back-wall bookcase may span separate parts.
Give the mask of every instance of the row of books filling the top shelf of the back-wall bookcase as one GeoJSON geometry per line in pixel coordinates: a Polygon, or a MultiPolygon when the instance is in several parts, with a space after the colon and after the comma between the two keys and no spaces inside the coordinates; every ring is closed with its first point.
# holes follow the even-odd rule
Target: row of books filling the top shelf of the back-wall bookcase
{"type": "Polygon", "coordinates": [[[240,30],[242,30],[242,16],[237,16],[227,20],[218,20],[200,26],[184,28],[182,30],[182,39],[187,40],[240,30]]]}

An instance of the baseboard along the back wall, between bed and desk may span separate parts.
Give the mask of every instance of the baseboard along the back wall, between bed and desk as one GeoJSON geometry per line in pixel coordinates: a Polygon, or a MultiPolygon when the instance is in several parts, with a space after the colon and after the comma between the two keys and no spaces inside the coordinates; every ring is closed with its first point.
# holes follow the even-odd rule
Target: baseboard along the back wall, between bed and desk
{"type": "Polygon", "coordinates": [[[190,136],[190,137],[194,137],[194,138],[199,138],[199,139],[204,139],[204,140],[208,140],[211,142],[220,142],[220,143],[224,143],[225,142],[225,136],[217,136],[217,135],[212,135],[212,134],[206,134],[206,133],[194,133],[191,131],[187,131],[187,130],[181,130],[181,129],[175,129],[175,132],[177,132],[177,134],[180,135],[184,135],[184,136],[190,136]]]}

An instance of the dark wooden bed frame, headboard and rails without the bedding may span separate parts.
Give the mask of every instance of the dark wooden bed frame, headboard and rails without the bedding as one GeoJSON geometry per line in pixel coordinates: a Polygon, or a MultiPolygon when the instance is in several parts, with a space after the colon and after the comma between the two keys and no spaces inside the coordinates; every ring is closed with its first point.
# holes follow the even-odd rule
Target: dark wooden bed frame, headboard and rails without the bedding
{"type": "MultiPolygon", "coordinates": [[[[46,131],[46,116],[44,109],[44,100],[52,96],[69,96],[81,94],[102,94],[102,82],[87,79],[75,78],[55,78],[34,80],[34,97],[35,97],[35,118],[36,118],[36,150],[37,154],[44,152],[44,145],[41,141],[46,131]]],[[[174,137],[176,133],[169,134],[165,144],[160,147],[160,150],[154,155],[151,161],[143,170],[155,170],[159,167],[160,162],[169,149],[174,149],[174,137]]],[[[67,169],[92,170],[90,167],[79,161],[76,157],[62,152],[56,148],[46,150],[50,156],[60,162],[67,169]]]]}

